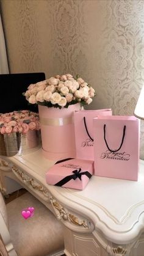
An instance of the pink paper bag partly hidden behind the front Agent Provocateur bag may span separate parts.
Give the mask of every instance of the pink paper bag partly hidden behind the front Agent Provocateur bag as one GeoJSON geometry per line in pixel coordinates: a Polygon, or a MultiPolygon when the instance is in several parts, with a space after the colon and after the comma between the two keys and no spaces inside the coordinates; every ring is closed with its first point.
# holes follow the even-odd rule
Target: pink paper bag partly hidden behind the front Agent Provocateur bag
{"type": "Polygon", "coordinates": [[[74,112],[76,158],[78,159],[94,160],[93,118],[98,115],[112,115],[112,110],[97,109],[74,112]]]}

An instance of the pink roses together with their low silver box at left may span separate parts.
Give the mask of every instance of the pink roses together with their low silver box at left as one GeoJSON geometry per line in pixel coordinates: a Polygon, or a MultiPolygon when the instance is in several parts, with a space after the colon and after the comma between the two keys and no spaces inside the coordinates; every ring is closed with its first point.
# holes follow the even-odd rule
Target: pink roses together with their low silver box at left
{"type": "Polygon", "coordinates": [[[0,114],[0,153],[13,156],[40,144],[38,113],[22,110],[0,114]]]}

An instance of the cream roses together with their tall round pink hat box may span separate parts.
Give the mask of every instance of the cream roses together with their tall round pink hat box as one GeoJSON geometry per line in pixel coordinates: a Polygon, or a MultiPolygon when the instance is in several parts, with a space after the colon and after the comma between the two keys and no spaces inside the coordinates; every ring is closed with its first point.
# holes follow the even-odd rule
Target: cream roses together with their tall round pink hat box
{"type": "Polygon", "coordinates": [[[82,78],[56,75],[30,84],[23,93],[38,104],[43,155],[48,159],[75,157],[73,112],[92,103],[95,90],[82,78]]]}

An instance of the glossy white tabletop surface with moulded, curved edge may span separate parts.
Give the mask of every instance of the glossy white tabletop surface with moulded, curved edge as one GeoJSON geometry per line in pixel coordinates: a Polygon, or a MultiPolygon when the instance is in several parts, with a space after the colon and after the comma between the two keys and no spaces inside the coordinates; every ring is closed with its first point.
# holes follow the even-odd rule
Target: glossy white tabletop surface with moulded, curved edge
{"type": "Polygon", "coordinates": [[[83,191],[46,184],[45,174],[54,161],[40,150],[9,158],[39,180],[63,205],[82,213],[109,240],[131,243],[144,230],[144,162],[140,160],[139,180],[118,180],[93,176],[83,191]]]}

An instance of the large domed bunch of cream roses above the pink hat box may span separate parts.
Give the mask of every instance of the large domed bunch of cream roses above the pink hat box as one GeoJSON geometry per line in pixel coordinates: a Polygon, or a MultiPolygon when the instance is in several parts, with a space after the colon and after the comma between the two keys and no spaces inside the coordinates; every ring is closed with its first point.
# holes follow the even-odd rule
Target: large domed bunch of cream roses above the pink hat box
{"type": "Polygon", "coordinates": [[[45,81],[30,84],[23,95],[31,104],[40,104],[48,108],[68,108],[71,104],[81,103],[81,106],[92,103],[95,90],[77,76],[56,75],[45,81]]]}

